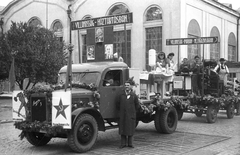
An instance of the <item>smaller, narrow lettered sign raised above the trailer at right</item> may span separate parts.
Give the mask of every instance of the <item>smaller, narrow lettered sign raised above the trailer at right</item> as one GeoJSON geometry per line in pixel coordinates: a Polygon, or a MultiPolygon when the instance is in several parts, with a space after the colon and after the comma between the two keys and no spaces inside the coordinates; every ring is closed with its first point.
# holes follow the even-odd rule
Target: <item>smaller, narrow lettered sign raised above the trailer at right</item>
{"type": "Polygon", "coordinates": [[[218,37],[167,39],[166,45],[216,44],[218,37]]]}

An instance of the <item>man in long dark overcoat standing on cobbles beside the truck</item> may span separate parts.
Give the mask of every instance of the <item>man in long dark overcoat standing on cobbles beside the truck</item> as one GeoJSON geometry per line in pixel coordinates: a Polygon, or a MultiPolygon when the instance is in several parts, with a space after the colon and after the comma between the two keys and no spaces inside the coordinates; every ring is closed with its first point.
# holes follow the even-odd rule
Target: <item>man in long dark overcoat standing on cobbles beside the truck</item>
{"type": "Polygon", "coordinates": [[[119,134],[121,135],[121,145],[119,148],[133,146],[133,135],[136,127],[136,111],[139,106],[138,97],[133,92],[132,79],[125,82],[125,89],[121,90],[117,96],[116,106],[119,110],[119,134]]]}

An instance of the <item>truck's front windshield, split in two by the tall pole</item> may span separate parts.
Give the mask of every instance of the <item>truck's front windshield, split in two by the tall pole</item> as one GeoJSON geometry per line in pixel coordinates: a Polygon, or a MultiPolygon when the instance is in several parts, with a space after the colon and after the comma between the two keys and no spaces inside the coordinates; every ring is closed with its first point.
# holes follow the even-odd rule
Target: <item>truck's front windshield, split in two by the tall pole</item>
{"type": "MultiPolygon", "coordinates": [[[[72,84],[95,84],[99,77],[97,72],[81,72],[72,73],[72,84]]],[[[66,82],[66,73],[60,73],[58,77],[58,84],[64,84],[66,82]]]]}

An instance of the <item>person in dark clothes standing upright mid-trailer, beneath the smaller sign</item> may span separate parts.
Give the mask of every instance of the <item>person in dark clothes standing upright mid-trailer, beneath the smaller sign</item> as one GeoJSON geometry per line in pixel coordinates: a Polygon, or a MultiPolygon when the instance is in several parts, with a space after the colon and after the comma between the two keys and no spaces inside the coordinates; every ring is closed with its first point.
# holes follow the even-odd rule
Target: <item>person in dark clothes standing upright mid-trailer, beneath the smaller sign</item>
{"type": "Polygon", "coordinates": [[[203,64],[199,56],[194,57],[194,63],[191,67],[191,71],[193,72],[192,76],[193,93],[200,95],[200,90],[202,89],[201,79],[203,73],[203,64]]]}

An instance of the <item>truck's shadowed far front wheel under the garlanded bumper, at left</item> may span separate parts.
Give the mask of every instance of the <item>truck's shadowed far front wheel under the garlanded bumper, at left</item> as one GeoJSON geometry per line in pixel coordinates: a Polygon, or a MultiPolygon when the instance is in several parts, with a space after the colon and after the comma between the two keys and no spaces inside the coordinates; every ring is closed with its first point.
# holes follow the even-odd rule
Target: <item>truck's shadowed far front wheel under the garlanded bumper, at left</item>
{"type": "Polygon", "coordinates": [[[34,146],[46,145],[52,137],[46,137],[44,133],[26,132],[25,137],[29,143],[34,146]]]}

